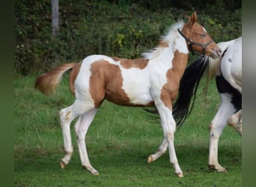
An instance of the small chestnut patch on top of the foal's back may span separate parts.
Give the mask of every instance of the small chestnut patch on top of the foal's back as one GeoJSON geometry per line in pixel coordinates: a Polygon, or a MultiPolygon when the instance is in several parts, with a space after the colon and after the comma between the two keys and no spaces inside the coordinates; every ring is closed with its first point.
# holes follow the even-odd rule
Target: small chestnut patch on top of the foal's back
{"type": "Polygon", "coordinates": [[[118,57],[112,57],[114,61],[120,61],[120,64],[122,67],[129,69],[129,68],[138,68],[143,70],[145,67],[147,67],[148,60],[144,58],[140,59],[127,59],[127,58],[118,58],[118,57]]]}

